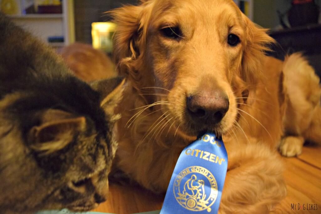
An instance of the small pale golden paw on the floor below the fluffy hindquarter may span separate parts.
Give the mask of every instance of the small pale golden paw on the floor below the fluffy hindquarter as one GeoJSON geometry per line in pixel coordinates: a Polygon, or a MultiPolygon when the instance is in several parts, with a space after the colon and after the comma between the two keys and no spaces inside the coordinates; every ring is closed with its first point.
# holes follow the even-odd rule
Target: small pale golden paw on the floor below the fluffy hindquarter
{"type": "Polygon", "coordinates": [[[304,138],[301,136],[286,136],[282,138],[279,150],[283,156],[298,156],[302,152],[304,138]]]}

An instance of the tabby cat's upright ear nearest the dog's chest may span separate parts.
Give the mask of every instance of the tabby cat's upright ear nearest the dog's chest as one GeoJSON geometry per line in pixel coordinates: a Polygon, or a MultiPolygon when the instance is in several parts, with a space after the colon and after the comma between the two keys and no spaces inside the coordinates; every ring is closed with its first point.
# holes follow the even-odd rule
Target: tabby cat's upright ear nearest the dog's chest
{"type": "Polygon", "coordinates": [[[122,99],[124,85],[125,79],[120,77],[91,82],[91,87],[101,95],[100,106],[108,115],[113,115],[122,99]]]}

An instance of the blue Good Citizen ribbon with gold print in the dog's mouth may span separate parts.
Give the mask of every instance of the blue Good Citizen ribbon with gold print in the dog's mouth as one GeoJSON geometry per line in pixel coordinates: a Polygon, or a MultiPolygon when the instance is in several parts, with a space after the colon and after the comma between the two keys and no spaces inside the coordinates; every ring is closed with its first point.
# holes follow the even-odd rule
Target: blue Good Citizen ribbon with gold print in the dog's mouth
{"type": "Polygon", "coordinates": [[[180,154],[160,214],[217,213],[226,171],[222,139],[204,134],[180,154]]]}

